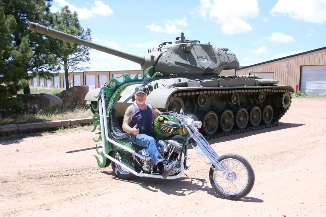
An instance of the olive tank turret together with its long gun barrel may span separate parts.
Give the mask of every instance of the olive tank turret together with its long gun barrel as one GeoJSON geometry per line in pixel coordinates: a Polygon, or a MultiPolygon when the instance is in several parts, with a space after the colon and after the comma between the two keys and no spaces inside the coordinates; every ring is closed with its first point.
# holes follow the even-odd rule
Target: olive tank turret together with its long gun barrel
{"type": "Polygon", "coordinates": [[[161,72],[164,76],[170,74],[217,76],[223,69],[239,68],[238,59],[228,48],[214,48],[210,43],[204,44],[198,40],[186,40],[184,33],[181,33],[181,36],[177,37],[174,43],[163,42],[157,48],[148,49],[147,54],[141,57],[101,46],[34,22],[29,22],[27,29],[136,62],[141,65],[143,70],[154,66],[153,70],[161,72]]]}

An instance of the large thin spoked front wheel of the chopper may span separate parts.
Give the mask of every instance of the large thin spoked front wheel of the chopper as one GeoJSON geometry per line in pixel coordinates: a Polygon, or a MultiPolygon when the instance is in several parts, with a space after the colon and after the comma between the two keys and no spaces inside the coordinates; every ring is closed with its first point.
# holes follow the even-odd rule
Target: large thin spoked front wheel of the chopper
{"type": "Polygon", "coordinates": [[[219,156],[217,161],[225,168],[225,174],[212,167],[209,170],[209,181],[215,192],[230,200],[238,200],[249,194],[255,183],[255,173],[250,163],[236,154],[219,156]]]}

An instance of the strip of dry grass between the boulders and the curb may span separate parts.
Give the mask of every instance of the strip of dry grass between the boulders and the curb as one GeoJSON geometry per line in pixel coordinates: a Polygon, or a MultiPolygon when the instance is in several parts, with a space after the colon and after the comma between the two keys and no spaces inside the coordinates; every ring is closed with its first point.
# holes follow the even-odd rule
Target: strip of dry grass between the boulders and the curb
{"type": "Polygon", "coordinates": [[[4,118],[0,117],[0,125],[65,120],[85,117],[93,117],[93,113],[90,110],[90,106],[63,106],[55,110],[39,111],[36,114],[20,114],[4,118]]]}

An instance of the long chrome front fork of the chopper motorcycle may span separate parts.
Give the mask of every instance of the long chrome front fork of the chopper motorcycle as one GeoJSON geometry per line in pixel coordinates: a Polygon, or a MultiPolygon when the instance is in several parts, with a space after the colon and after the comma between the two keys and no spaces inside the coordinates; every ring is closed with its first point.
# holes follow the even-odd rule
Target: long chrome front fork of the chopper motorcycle
{"type": "MultiPolygon", "coordinates": [[[[195,140],[195,142],[197,143],[197,145],[199,145],[199,147],[201,148],[201,151],[204,152],[204,154],[208,157],[208,159],[211,160],[211,162],[218,167],[221,171],[227,171],[227,169],[225,169],[223,167],[223,165],[221,165],[218,161],[218,155],[215,152],[215,150],[212,148],[212,146],[207,142],[207,140],[203,137],[203,135],[198,131],[197,128],[195,128],[194,126],[188,126],[185,122],[185,117],[184,115],[181,114],[177,114],[175,113],[175,115],[178,115],[179,118],[182,121],[182,125],[185,126],[185,128],[188,130],[190,136],[195,140]]],[[[213,168],[214,170],[214,168],[213,168]]]]}

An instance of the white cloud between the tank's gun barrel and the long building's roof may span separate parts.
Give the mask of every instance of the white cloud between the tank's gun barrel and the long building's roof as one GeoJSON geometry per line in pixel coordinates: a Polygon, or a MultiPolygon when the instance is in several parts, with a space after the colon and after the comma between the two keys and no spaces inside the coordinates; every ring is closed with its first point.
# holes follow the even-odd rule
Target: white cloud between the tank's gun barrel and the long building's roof
{"type": "Polygon", "coordinates": [[[91,65],[87,71],[140,70],[141,66],[132,61],[113,56],[98,50],[89,51],[91,65]]]}

